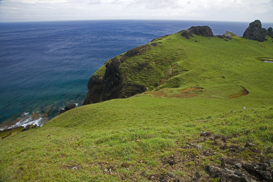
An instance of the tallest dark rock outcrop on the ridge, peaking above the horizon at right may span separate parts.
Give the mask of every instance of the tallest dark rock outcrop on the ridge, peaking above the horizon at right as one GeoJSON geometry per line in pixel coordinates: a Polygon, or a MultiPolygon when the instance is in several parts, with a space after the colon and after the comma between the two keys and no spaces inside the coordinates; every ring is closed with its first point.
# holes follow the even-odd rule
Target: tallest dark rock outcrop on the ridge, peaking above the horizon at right
{"type": "Polygon", "coordinates": [[[245,30],[243,37],[251,40],[265,41],[266,29],[262,28],[260,20],[251,22],[248,28],[245,30]]]}

